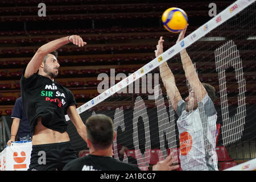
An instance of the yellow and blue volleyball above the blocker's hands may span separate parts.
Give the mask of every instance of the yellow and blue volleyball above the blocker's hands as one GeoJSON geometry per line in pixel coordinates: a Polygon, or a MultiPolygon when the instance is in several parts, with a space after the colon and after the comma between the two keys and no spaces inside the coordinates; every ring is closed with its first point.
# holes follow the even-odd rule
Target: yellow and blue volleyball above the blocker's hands
{"type": "Polygon", "coordinates": [[[188,15],[184,10],[177,7],[171,7],[164,11],[162,15],[163,27],[166,30],[178,33],[181,32],[188,23],[188,15]]]}

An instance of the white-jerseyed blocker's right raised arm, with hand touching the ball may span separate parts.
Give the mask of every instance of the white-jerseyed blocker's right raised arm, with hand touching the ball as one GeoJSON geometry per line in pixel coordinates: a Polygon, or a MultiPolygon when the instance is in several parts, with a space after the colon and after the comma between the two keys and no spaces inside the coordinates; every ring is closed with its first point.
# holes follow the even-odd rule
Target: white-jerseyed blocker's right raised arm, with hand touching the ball
{"type": "MultiPolygon", "coordinates": [[[[183,31],[180,32],[179,38],[177,39],[177,43],[184,39],[185,31],[187,27],[184,28],[183,31]]],[[[188,83],[191,86],[191,89],[196,94],[197,101],[203,100],[206,96],[207,91],[205,90],[203,84],[199,80],[199,77],[196,72],[196,68],[194,67],[191,58],[189,57],[187,51],[183,49],[180,51],[181,63],[185,72],[185,76],[188,79],[188,83]]]]}

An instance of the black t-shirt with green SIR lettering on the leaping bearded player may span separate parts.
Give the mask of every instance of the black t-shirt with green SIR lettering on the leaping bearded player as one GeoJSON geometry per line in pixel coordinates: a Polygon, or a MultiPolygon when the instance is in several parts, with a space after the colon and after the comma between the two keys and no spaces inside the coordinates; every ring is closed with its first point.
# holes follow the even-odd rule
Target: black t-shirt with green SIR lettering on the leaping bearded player
{"type": "Polygon", "coordinates": [[[25,78],[24,71],[20,88],[31,134],[34,134],[38,117],[42,117],[42,124],[49,129],[60,133],[67,131],[65,114],[69,106],[76,105],[71,90],[38,73],[25,78]]]}

